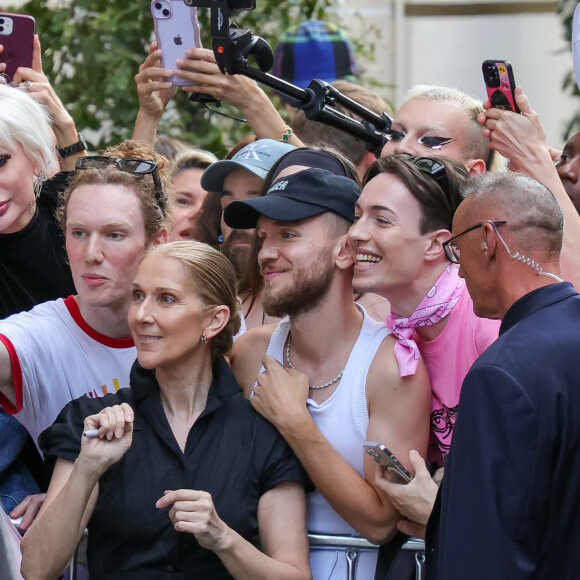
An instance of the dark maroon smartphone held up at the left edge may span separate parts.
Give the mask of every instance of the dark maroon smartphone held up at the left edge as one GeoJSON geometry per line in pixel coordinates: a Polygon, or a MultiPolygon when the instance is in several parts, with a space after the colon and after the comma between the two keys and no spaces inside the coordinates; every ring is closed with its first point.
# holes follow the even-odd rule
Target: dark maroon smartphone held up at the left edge
{"type": "Polygon", "coordinates": [[[6,63],[4,76],[11,83],[16,69],[32,66],[34,18],[26,14],[0,12],[0,62],[6,63]]]}

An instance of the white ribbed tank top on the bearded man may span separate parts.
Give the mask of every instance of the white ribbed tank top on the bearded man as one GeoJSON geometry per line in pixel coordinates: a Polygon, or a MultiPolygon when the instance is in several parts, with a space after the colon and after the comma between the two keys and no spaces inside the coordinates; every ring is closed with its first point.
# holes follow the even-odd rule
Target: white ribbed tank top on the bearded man
{"type": "MultiPolygon", "coordinates": [[[[309,398],[306,403],[321,433],[364,477],[363,444],[366,441],[369,424],[366,379],[377,349],[391,331],[384,324],[373,320],[360,305],[357,306],[363,313],[363,324],[338,387],[326,401],[319,404],[309,398]]],[[[290,320],[288,317],[283,318],[272,333],[266,352],[282,364],[289,330],[290,320]]],[[[262,367],[260,373],[263,371],[262,367]]],[[[356,498],[353,497],[353,501],[356,501],[356,498]]],[[[306,502],[309,532],[359,535],[334,511],[318,490],[309,493],[306,502]]],[[[334,548],[312,550],[310,563],[314,580],[330,578],[344,580],[347,577],[344,550],[337,551],[334,548]]],[[[357,578],[360,580],[373,578],[375,566],[376,553],[361,552],[357,561],[357,578]]]]}

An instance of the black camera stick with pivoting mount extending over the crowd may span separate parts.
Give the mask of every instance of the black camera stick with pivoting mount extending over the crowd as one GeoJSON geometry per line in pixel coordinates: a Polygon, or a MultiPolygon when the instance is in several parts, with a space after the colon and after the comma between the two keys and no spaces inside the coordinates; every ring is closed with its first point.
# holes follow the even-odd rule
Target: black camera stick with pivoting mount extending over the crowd
{"type": "Polygon", "coordinates": [[[247,28],[230,26],[231,9],[251,10],[252,0],[184,0],[188,6],[211,9],[211,36],[213,52],[222,73],[242,74],[264,84],[285,97],[292,106],[304,111],[307,119],[335,127],[364,141],[367,149],[377,157],[387,141],[393,119],[387,114],[377,115],[357,101],[343,95],[331,84],[314,79],[308,88],[302,89],[266,71],[274,64],[274,54],[270,45],[247,28]],[[248,63],[247,56],[253,54],[259,68],[248,63]],[[333,108],[341,105],[362,121],[333,108]]]}

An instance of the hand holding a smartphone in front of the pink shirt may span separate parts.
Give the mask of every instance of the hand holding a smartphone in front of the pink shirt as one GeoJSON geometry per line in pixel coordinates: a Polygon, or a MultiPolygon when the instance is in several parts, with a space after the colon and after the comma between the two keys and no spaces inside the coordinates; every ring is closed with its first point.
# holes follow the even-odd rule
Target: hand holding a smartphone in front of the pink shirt
{"type": "Polygon", "coordinates": [[[426,525],[439,488],[431,478],[425,460],[414,449],[409,451],[409,460],[415,472],[410,483],[394,483],[380,465],[375,472],[375,483],[401,515],[415,523],[426,525]]]}

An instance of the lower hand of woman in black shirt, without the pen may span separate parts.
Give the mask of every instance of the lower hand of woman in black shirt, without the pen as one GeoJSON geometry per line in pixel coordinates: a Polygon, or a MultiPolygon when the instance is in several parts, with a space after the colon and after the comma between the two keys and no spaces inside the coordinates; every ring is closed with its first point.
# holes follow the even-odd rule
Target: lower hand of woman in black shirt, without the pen
{"type": "Polygon", "coordinates": [[[211,494],[193,489],[166,490],[155,507],[169,506],[169,519],[177,532],[193,534],[208,550],[227,549],[231,530],[218,516],[211,494]]]}

